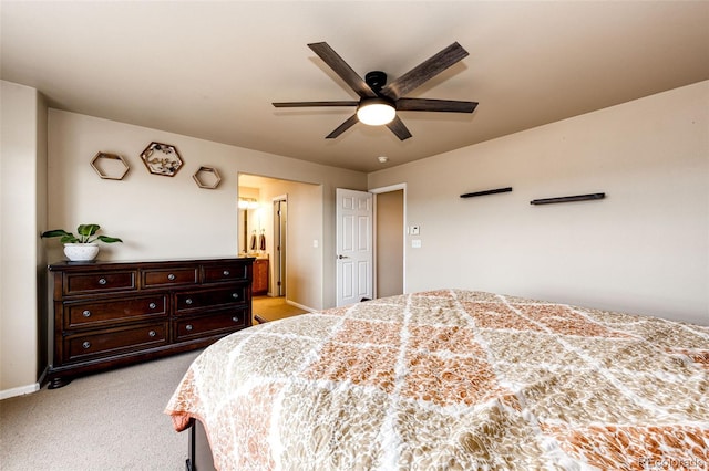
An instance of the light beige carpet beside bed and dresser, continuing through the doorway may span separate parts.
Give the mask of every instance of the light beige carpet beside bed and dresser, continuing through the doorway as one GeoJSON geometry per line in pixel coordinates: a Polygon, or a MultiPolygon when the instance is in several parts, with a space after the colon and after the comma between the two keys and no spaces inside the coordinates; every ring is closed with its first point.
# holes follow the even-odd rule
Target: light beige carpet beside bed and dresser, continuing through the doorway
{"type": "MultiPolygon", "coordinates": [[[[257,297],[253,307],[266,321],[305,313],[282,297],[257,297]]],[[[187,432],[175,432],[163,410],[201,352],[0,401],[0,469],[184,470],[187,432]]]]}

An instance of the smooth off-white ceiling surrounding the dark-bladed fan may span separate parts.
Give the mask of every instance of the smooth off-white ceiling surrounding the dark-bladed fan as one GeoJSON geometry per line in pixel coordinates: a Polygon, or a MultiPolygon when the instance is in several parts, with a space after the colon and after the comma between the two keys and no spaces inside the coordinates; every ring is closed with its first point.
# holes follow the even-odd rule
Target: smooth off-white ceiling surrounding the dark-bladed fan
{"type": "MultiPolygon", "coordinates": [[[[4,1],[1,77],[55,108],[372,171],[709,80],[709,1],[4,1]],[[408,96],[412,138],[357,124],[357,100],[307,48],[393,80],[458,41],[470,55],[408,96]],[[378,156],[388,156],[380,164],[378,156]]],[[[218,165],[218,163],[214,163],[218,165]]]]}

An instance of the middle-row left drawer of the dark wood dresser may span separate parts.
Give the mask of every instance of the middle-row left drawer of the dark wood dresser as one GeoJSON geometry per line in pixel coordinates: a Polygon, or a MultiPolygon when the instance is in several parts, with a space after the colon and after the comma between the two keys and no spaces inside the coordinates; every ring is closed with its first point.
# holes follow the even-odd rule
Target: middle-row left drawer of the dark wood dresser
{"type": "Polygon", "coordinates": [[[110,299],[64,303],[64,328],[94,327],[112,322],[136,322],[140,317],[166,316],[167,296],[110,299]]]}

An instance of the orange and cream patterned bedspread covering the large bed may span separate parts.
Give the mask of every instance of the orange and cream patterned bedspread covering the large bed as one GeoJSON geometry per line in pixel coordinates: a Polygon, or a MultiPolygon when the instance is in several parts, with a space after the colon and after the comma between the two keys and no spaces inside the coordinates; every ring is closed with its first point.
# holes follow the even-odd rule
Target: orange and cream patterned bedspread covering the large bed
{"type": "Polygon", "coordinates": [[[709,327],[414,293],[225,337],[166,414],[220,470],[706,470],[709,327]]]}

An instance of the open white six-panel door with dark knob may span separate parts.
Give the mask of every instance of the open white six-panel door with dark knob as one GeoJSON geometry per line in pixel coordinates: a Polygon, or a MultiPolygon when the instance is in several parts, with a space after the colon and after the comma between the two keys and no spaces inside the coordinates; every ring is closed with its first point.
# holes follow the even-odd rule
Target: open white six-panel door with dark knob
{"type": "Polygon", "coordinates": [[[337,305],[373,297],[373,207],[366,191],[336,189],[337,305]]]}

